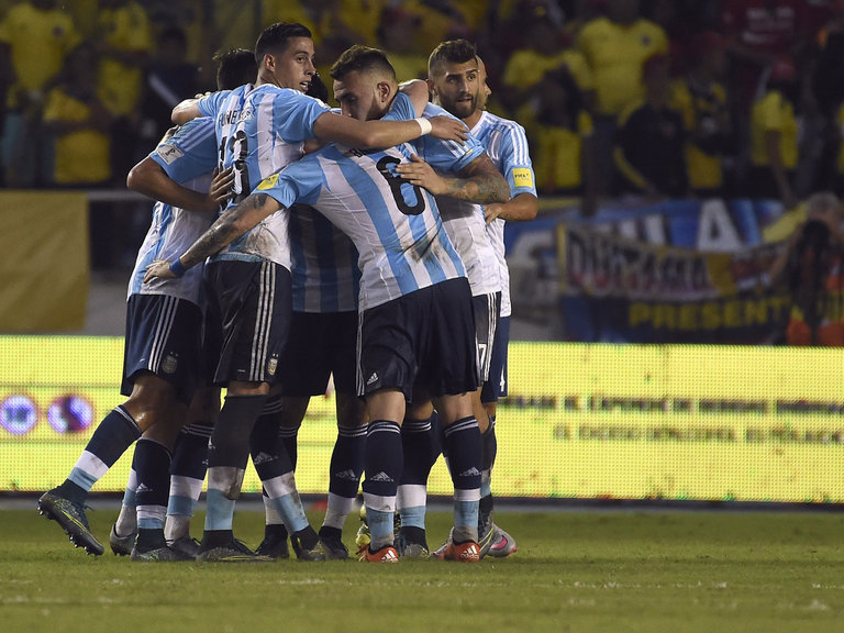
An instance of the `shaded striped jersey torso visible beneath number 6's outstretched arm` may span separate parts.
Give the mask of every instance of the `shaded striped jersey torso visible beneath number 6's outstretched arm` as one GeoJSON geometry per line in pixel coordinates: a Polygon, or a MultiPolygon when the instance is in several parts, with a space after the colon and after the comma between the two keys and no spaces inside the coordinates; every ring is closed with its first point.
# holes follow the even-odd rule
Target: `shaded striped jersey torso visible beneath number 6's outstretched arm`
{"type": "Polygon", "coordinates": [[[304,204],[290,209],[289,230],[293,311],[356,311],[360,270],[352,240],[304,204]]]}

